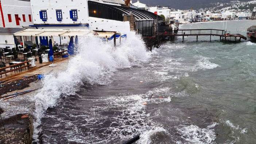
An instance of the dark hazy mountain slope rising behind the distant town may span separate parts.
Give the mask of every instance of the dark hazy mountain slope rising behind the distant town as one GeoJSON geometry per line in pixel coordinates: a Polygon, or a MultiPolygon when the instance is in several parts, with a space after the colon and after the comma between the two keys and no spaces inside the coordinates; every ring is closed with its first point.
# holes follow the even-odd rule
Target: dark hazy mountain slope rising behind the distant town
{"type": "MultiPolygon", "coordinates": [[[[240,0],[240,1],[251,1],[251,0],[240,0]]],[[[133,3],[136,0],[132,0],[133,3]]],[[[210,3],[229,3],[230,0],[140,0],[141,3],[150,6],[169,6],[175,9],[194,9],[198,8],[208,8],[212,5],[210,3]]]]}

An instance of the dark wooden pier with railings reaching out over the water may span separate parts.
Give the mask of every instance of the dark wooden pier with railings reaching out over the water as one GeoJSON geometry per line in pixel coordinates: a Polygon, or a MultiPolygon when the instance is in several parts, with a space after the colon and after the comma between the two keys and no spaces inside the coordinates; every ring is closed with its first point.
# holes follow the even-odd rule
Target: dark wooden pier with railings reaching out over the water
{"type": "Polygon", "coordinates": [[[217,29],[190,29],[190,30],[162,30],[158,32],[158,35],[151,37],[144,37],[146,47],[151,51],[152,47],[159,47],[164,40],[175,40],[176,36],[182,36],[182,42],[185,42],[185,36],[210,36],[210,42],[212,36],[219,36],[220,42],[240,42],[241,39],[247,40],[247,37],[241,34],[230,34],[230,31],[217,30],[217,29]]]}

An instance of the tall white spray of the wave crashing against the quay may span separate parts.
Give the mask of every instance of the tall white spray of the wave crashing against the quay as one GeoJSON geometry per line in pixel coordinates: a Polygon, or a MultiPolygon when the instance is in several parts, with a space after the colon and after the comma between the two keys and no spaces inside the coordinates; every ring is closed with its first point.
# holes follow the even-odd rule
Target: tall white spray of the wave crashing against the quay
{"type": "Polygon", "coordinates": [[[56,106],[62,94],[75,94],[84,81],[89,84],[107,84],[116,69],[138,65],[150,57],[141,37],[134,32],[127,33],[127,39],[123,39],[122,44],[116,47],[113,47],[112,41],[102,41],[93,36],[79,38],[76,52],[77,55],[70,58],[66,70],[45,76],[42,89],[34,97],[35,141],[38,140],[40,120],[44,112],[47,108],[56,106]]]}

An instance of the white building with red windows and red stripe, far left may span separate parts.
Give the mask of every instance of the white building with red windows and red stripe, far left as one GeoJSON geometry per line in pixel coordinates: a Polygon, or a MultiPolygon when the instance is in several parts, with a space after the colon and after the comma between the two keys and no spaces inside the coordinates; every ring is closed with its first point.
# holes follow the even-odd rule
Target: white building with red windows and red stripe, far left
{"type": "Polygon", "coordinates": [[[30,0],[0,1],[0,27],[27,27],[32,19],[30,0]]]}

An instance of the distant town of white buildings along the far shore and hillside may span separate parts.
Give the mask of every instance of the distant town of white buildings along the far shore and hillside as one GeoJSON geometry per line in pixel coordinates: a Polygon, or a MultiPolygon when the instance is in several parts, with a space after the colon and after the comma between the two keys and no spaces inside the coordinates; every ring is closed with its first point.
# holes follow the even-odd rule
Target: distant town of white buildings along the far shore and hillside
{"type": "MultiPolygon", "coordinates": [[[[131,2],[132,3],[132,2],[131,2]]],[[[217,20],[249,20],[256,19],[256,1],[240,2],[230,1],[230,3],[212,4],[212,8],[201,8],[195,10],[193,8],[180,10],[170,7],[149,7],[147,4],[141,3],[139,0],[132,3],[135,8],[145,9],[150,12],[157,11],[166,21],[175,20],[179,23],[193,22],[209,22],[217,20]],[[250,9],[250,6],[253,7],[250,9]],[[243,9],[240,9],[243,8],[243,9]]]]}

